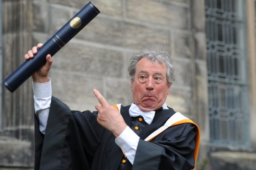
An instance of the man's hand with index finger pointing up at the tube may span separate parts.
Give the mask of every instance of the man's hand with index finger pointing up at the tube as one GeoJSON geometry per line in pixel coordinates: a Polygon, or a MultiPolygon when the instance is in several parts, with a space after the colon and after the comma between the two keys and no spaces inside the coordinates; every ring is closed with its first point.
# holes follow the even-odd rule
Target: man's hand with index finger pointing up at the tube
{"type": "Polygon", "coordinates": [[[125,120],[117,109],[109,105],[98,90],[94,89],[93,93],[100,102],[100,104],[95,105],[95,108],[98,110],[97,122],[111,131],[115,137],[118,137],[127,126],[125,120]]]}

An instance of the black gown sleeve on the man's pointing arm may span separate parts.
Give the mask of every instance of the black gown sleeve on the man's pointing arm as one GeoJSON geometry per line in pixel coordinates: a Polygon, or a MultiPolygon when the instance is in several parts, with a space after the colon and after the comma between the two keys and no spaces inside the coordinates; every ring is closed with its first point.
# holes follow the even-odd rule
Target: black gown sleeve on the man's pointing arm
{"type": "Polygon", "coordinates": [[[151,142],[140,139],[132,170],[191,170],[194,168],[195,127],[185,123],[168,128],[151,142]]]}

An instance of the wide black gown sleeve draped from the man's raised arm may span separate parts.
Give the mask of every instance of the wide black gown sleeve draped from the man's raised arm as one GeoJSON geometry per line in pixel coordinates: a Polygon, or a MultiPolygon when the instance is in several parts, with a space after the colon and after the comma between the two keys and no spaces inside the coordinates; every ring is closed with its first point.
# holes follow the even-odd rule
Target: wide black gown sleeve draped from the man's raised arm
{"type": "Polygon", "coordinates": [[[89,170],[104,131],[96,112],[71,111],[54,96],[45,135],[38,129],[35,127],[35,137],[39,136],[35,140],[35,167],[40,170],[89,170]]]}

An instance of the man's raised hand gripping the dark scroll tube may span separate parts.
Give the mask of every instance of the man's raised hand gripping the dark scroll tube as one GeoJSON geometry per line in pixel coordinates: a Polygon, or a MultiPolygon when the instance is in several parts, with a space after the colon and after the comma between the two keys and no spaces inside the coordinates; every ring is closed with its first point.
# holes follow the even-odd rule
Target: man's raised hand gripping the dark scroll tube
{"type": "MultiPolygon", "coordinates": [[[[41,48],[43,44],[38,44],[37,46],[33,47],[32,50],[29,50],[27,54],[24,55],[26,60],[29,60],[34,57],[34,55],[38,52],[38,49],[41,48]]],[[[45,83],[48,82],[48,73],[51,69],[53,59],[50,54],[46,56],[46,63],[38,69],[35,73],[33,73],[32,78],[33,81],[36,83],[45,83]]]]}

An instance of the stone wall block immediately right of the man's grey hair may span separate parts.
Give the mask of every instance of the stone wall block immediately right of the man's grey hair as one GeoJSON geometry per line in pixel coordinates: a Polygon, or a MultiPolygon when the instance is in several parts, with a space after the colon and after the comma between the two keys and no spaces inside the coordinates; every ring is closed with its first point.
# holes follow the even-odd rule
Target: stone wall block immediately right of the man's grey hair
{"type": "Polygon", "coordinates": [[[184,87],[191,89],[192,87],[192,70],[190,60],[174,59],[172,58],[174,65],[175,81],[174,87],[184,87]]]}

